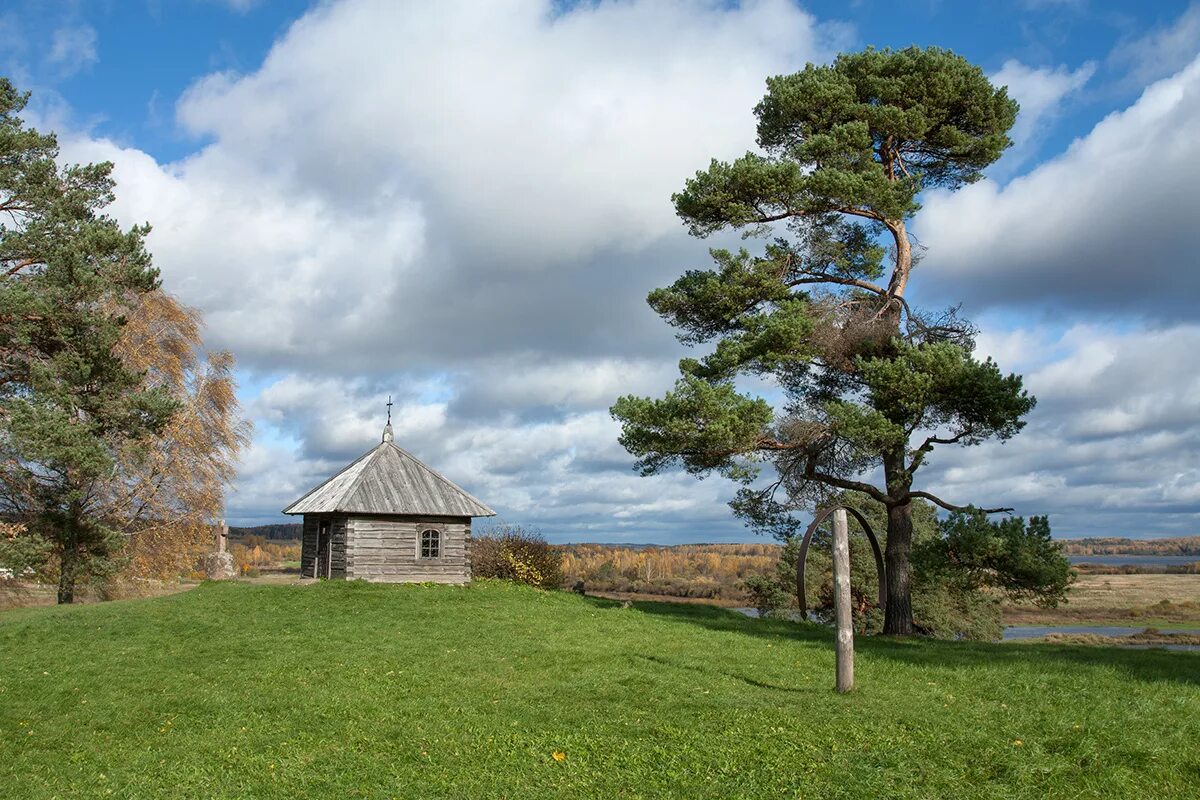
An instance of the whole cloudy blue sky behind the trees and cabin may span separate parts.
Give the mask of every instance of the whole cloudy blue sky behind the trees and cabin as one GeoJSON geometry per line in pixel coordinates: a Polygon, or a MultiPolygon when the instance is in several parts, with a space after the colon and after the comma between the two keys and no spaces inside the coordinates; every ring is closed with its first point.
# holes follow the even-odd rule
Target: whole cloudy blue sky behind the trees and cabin
{"type": "Polygon", "coordinates": [[[656,542],[752,536],[727,483],[634,475],[606,413],[682,354],[643,301],[703,265],[671,192],[752,146],[766,76],[954,49],[1022,114],[988,180],[925,198],[913,291],[961,301],[1040,403],[928,486],[1058,535],[1200,533],[1200,6],[16,2],[0,44],[239,359],[233,522],[368,447],[390,393],[401,444],[505,519],[656,542]]]}

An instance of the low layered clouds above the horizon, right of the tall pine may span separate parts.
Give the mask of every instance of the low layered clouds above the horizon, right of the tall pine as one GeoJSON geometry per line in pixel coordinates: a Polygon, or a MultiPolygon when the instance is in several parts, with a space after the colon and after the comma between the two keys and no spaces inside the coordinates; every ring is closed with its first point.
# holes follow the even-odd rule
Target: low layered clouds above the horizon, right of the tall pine
{"type": "Polygon", "coordinates": [[[1194,534],[1200,374],[1180,367],[1200,326],[1081,324],[1006,338],[980,349],[1016,355],[1010,366],[1038,398],[1028,426],[1004,444],[936,452],[923,480],[955,501],[1049,513],[1057,535],[1194,534]]]}

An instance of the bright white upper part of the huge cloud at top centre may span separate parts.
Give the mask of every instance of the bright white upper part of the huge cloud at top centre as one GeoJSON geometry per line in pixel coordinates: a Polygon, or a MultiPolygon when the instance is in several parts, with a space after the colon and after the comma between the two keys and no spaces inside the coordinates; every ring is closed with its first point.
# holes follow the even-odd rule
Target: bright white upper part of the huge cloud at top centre
{"type": "Polygon", "coordinates": [[[674,229],[680,176],[752,138],[750,114],[718,109],[748,112],[815,52],[779,0],[342,2],[257,73],[197,83],[179,115],[337,201],[419,187],[479,251],[535,267],[674,229]]]}

